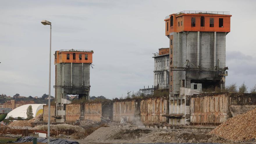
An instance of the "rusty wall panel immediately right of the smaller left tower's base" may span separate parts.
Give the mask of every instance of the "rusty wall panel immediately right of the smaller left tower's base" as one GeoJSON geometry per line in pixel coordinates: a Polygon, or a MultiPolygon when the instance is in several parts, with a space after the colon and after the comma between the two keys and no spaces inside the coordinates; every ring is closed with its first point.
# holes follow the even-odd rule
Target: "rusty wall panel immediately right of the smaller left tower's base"
{"type": "Polygon", "coordinates": [[[80,119],[80,104],[66,105],[66,122],[75,122],[80,119]]]}

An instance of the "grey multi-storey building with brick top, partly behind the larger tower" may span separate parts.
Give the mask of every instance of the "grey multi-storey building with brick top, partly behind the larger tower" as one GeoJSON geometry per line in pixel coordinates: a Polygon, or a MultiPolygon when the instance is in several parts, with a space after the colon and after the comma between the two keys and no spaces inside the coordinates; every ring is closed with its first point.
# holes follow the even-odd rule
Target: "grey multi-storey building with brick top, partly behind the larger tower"
{"type": "Polygon", "coordinates": [[[154,88],[169,89],[169,48],[160,48],[154,54],[154,88]]]}

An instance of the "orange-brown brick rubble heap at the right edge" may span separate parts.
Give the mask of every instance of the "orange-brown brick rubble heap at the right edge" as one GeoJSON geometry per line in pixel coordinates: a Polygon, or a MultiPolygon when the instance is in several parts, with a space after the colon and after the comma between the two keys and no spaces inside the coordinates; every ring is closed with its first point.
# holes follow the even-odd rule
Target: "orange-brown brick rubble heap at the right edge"
{"type": "Polygon", "coordinates": [[[256,138],[256,109],[228,119],[212,130],[216,134],[233,141],[246,141],[256,138]]]}

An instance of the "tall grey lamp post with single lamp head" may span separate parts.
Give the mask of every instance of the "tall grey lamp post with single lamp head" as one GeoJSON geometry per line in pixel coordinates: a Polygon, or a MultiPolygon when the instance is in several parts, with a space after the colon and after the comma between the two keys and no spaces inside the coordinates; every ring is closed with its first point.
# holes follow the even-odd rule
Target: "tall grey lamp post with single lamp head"
{"type": "Polygon", "coordinates": [[[41,22],[43,25],[50,25],[50,61],[49,61],[49,97],[48,97],[48,144],[50,143],[50,115],[51,115],[51,22],[47,20],[42,20],[41,22]]]}

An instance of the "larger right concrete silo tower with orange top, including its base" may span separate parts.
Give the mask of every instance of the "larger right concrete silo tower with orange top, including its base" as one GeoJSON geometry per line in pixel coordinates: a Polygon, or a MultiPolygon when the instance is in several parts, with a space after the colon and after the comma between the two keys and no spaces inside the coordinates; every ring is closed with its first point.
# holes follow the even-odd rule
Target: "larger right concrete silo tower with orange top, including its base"
{"type": "Polygon", "coordinates": [[[225,88],[229,12],[182,11],[166,17],[170,39],[170,124],[188,124],[186,95],[225,88]]]}

